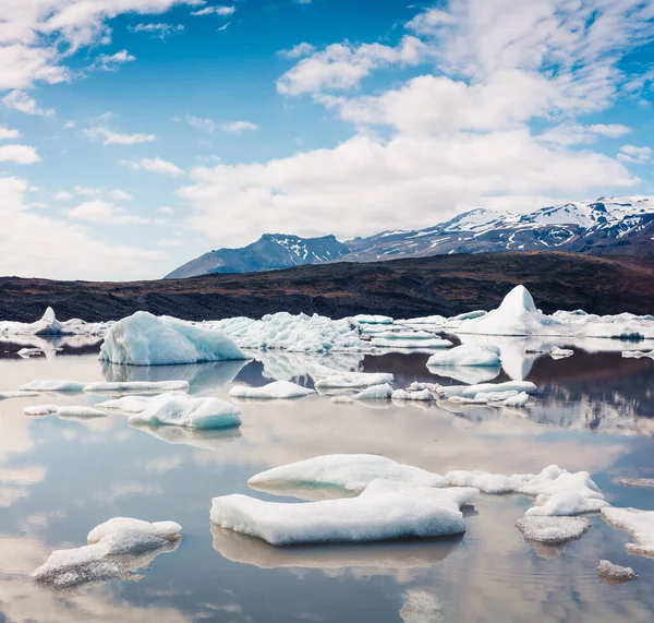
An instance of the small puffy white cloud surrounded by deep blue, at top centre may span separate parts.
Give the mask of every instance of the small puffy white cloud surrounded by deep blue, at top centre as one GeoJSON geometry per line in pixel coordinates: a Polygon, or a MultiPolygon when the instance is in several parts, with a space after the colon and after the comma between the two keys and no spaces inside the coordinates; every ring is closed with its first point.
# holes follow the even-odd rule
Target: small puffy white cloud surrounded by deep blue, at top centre
{"type": "Polygon", "coordinates": [[[282,95],[347,91],[358,86],[375,69],[390,64],[416,65],[429,56],[428,47],[411,36],[403,37],[397,47],[332,44],[287,71],[277,81],[277,91],[282,95]]]}

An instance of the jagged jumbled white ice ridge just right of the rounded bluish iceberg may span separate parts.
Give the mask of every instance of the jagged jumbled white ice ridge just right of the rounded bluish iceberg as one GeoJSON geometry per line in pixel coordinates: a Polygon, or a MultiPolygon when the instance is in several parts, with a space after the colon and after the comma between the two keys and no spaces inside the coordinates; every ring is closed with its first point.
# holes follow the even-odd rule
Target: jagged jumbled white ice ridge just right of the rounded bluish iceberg
{"type": "Polygon", "coordinates": [[[349,319],[293,315],[279,312],[252,320],[231,318],[204,322],[202,326],[223,331],[241,348],[279,349],[292,352],[361,350],[361,332],[349,319]]]}

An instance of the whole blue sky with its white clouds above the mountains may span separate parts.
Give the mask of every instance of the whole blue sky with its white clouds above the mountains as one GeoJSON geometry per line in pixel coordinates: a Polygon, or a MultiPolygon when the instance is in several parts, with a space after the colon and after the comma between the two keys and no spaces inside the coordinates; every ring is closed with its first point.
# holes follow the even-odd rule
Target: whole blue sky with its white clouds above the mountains
{"type": "Polygon", "coordinates": [[[0,0],[0,274],[652,192],[654,2],[0,0]]]}

